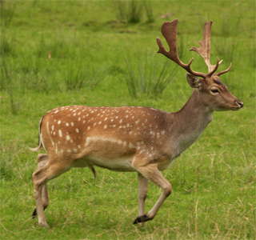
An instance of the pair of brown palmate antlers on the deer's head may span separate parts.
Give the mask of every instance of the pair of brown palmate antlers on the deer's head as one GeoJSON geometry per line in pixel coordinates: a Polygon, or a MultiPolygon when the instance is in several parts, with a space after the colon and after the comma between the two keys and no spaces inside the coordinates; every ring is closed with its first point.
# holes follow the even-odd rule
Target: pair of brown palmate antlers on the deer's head
{"type": "MultiPolygon", "coordinates": [[[[158,53],[165,55],[167,58],[170,58],[170,60],[176,62],[179,66],[182,66],[187,72],[190,74],[193,74],[194,76],[207,78],[212,76],[216,70],[218,70],[218,66],[222,63],[222,60],[218,60],[216,65],[210,64],[210,30],[211,30],[211,24],[212,22],[206,22],[205,24],[205,30],[203,34],[203,39],[201,42],[199,42],[200,47],[192,47],[190,50],[194,50],[197,52],[206,62],[206,66],[208,67],[208,73],[204,74],[201,72],[196,72],[194,70],[191,70],[191,63],[193,62],[194,58],[191,58],[190,62],[188,64],[183,63],[179,57],[178,57],[178,50],[177,50],[177,25],[178,25],[178,19],[173,20],[172,22],[164,22],[162,24],[162,35],[164,38],[166,38],[166,42],[170,48],[169,52],[166,51],[164,46],[162,46],[162,42],[159,38],[157,38],[157,43],[159,46],[158,53]]],[[[231,67],[231,65],[230,65],[231,67]]],[[[225,74],[230,70],[230,67],[226,70],[223,70],[215,75],[221,75],[225,74]]]]}

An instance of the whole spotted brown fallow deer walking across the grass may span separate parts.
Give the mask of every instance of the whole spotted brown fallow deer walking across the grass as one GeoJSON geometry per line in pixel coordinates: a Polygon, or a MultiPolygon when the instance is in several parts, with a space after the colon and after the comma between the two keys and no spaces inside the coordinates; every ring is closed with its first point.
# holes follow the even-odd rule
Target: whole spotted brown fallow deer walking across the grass
{"type": "Polygon", "coordinates": [[[208,73],[191,70],[190,60],[183,63],[176,45],[178,20],[165,22],[162,34],[170,47],[166,51],[160,39],[158,53],[182,66],[194,91],[178,112],[169,113],[142,106],[90,107],[62,106],[46,113],[39,124],[39,146],[47,154],[38,154],[33,174],[38,223],[48,226],[44,209],[48,206],[46,182],[71,167],[100,166],[109,170],[138,173],[138,218],[135,223],[152,220],[170,195],[172,186],[162,175],[170,162],[198,138],[211,121],[214,110],[239,110],[243,103],[230,94],[216,72],[219,64],[210,63],[211,23],[206,22],[199,47],[192,47],[206,62],[208,73]],[[148,181],[162,189],[157,202],[144,211],[148,181]]]}

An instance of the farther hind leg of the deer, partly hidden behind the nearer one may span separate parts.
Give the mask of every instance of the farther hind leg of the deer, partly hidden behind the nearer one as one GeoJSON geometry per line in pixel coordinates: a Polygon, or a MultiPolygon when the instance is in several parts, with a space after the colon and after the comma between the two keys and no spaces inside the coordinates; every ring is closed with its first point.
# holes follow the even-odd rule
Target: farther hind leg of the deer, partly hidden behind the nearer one
{"type": "MultiPolygon", "coordinates": [[[[38,154],[38,170],[42,166],[46,166],[46,163],[48,161],[48,155],[47,154],[38,154]]],[[[47,185],[46,183],[42,185],[42,206],[43,210],[46,210],[47,206],[49,205],[49,198],[48,198],[48,190],[47,190],[47,185]]],[[[35,218],[37,216],[37,209],[35,208],[33,213],[32,213],[32,218],[35,218]]]]}

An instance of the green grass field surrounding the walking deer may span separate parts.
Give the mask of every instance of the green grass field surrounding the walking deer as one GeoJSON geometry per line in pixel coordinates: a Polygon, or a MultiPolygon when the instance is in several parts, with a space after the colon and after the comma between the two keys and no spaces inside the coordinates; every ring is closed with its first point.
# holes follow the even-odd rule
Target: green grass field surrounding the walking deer
{"type": "MultiPolygon", "coordinates": [[[[0,7],[1,239],[256,238],[254,1],[1,0],[0,7]],[[42,229],[30,218],[36,154],[28,150],[38,143],[42,114],[65,105],[179,110],[191,94],[185,71],[168,62],[162,90],[153,81],[166,64],[155,54],[155,38],[174,18],[182,60],[193,56],[194,70],[202,71],[188,49],[198,46],[203,23],[214,21],[212,62],[223,58],[222,69],[233,63],[222,80],[244,108],[215,113],[198,142],[165,171],[174,193],[153,221],[132,225],[135,173],[97,168],[94,180],[90,170],[73,169],[49,183],[51,228],[42,229]],[[127,87],[131,75],[134,89],[127,87]]],[[[158,194],[150,185],[147,209],[158,194]]]]}

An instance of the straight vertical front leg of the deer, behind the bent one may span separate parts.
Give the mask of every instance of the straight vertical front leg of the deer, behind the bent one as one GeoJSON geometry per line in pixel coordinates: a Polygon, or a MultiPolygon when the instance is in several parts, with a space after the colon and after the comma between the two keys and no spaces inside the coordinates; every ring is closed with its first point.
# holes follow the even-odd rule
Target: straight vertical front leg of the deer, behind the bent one
{"type": "Polygon", "coordinates": [[[144,215],[148,180],[138,173],[138,216],[144,215]]]}

